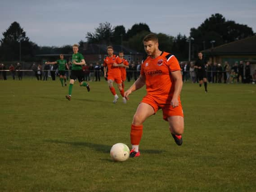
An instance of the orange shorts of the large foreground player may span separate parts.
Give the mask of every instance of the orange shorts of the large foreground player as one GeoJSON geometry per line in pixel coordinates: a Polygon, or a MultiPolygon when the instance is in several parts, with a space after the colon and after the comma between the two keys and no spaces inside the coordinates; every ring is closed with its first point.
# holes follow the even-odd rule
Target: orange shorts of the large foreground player
{"type": "Polygon", "coordinates": [[[166,99],[160,99],[160,98],[156,98],[156,97],[153,97],[150,95],[146,95],[142,99],[141,103],[147,103],[148,105],[151,105],[151,107],[153,107],[155,113],[159,109],[162,109],[163,119],[165,121],[168,121],[169,116],[184,117],[180,98],[179,98],[179,106],[175,107],[175,108],[171,106],[171,98],[166,100],[166,99]]]}

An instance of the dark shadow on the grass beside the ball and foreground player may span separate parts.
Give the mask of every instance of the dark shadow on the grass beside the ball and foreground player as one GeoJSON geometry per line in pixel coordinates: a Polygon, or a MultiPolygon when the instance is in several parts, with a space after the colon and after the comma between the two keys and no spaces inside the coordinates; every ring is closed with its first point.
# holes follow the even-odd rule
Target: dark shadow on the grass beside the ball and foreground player
{"type": "MultiPolygon", "coordinates": [[[[61,144],[68,144],[72,146],[84,146],[94,149],[97,152],[109,153],[112,146],[105,145],[105,144],[98,144],[98,143],[89,143],[89,142],[76,142],[76,141],[60,141],[60,140],[45,140],[46,142],[50,143],[61,143],[61,144]]],[[[153,149],[142,149],[142,153],[148,154],[160,154],[162,152],[166,152],[164,150],[153,150],[153,149]]]]}

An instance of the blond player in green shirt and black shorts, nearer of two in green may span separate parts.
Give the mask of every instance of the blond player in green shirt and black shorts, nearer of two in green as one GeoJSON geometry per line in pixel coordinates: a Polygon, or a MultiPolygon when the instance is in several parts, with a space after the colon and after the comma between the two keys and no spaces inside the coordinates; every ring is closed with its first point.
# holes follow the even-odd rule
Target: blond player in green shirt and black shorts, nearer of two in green
{"type": "Polygon", "coordinates": [[[80,86],[84,86],[87,88],[88,92],[90,91],[89,83],[84,82],[84,73],[82,71],[82,66],[85,65],[85,59],[82,54],[78,53],[78,45],[74,44],[72,46],[73,53],[72,54],[72,70],[69,81],[69,89],[68,95],[66,95],[67,100],[71,100],[72,88],[76,79],[79,81],[80,86]]]}

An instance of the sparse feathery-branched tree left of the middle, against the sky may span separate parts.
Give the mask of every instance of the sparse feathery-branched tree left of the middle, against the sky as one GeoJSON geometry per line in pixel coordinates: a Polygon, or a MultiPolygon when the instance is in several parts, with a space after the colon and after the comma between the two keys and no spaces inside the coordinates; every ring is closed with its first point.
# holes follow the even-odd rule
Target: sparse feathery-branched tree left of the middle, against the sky
{"type": "Polygon", "coordinates": [[[111,43],[114,29],[109,22],[99,23],[99,27],[95,28],[95,32],[87,32],[86,39],[88,43],[111,43]]]}

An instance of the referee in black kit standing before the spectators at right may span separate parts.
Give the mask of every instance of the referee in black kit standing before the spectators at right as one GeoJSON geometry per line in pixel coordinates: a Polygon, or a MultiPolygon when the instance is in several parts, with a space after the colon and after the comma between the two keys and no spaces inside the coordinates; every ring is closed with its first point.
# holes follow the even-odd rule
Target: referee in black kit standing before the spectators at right
{"type": "Polygon", "coordinates": [[[202,52],[199,52],[198,60],[195,63],[195,68],[198,69],[199,86],[200,87],[202,86],[202,81],[203,81],[205,93],[207,93],[207,78],[206,78],[205,64],[206,64],[206,62],[204,61],[204,59],[202,57],[202,52]]]}

